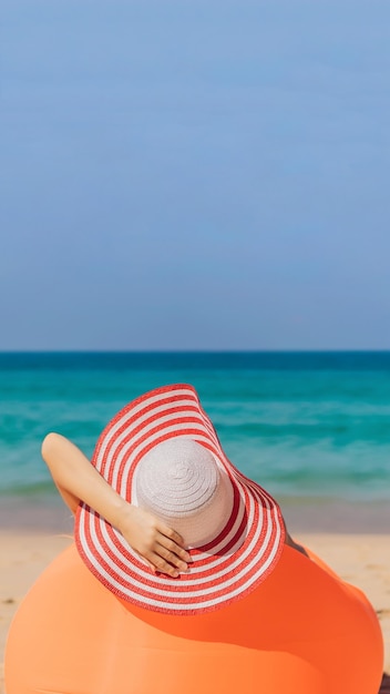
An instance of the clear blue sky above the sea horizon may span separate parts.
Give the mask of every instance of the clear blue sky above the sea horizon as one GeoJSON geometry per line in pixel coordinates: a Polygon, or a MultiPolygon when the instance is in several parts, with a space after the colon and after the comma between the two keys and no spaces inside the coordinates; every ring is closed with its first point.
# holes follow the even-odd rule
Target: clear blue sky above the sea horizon
{"type": "Polygon", "coordinates": [[[390,3],[0,12],[0,349],[390,348],[390,3]]]}

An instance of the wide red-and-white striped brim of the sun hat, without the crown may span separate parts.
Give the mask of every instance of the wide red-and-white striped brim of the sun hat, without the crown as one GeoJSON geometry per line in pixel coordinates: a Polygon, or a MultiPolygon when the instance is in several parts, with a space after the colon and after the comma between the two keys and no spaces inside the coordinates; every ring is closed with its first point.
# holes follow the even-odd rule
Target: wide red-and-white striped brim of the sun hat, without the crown
{"type": "Polygon", "coordinates": [[[209,449],[234,489],[229,521],[207,545],[191,550],[189,570],[177,579],[154,574],[121,533],[85,504],[78,511],[75,540],[88,568],[121,599],[157,612],[197,614],[237,600],[264,581],[279,559],[285,530],[274,499],[226,458],[192,386],[158,388],[127,405],[100,436],[92,463],[132,502],[137,462],[172,437],[209,449]]]}

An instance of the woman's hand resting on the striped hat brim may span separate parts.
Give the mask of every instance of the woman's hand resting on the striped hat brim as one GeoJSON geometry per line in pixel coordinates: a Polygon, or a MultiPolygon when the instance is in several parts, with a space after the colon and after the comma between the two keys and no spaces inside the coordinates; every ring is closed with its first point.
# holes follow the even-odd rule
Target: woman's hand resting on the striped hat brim
{"type": "Polygon", "coordinates": [[[183,548],[183,538],[155,516],[127,504],[122,509],[117,528],[124,539],[153,571],[157,570],[173,578],[188,569],[191,555],[183,548]]]}

